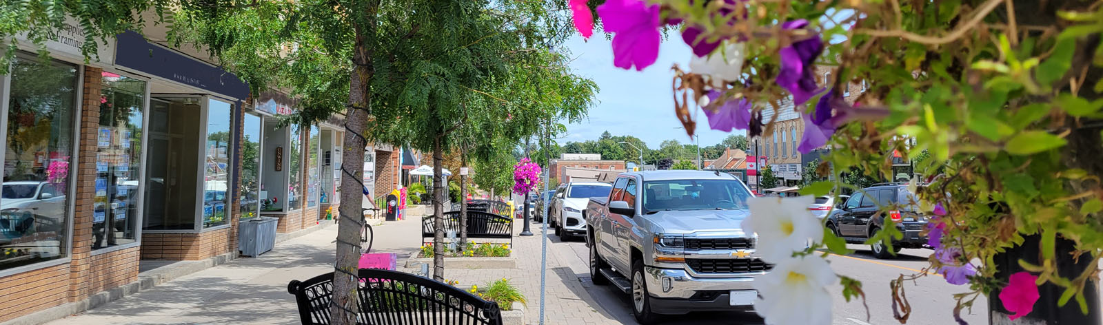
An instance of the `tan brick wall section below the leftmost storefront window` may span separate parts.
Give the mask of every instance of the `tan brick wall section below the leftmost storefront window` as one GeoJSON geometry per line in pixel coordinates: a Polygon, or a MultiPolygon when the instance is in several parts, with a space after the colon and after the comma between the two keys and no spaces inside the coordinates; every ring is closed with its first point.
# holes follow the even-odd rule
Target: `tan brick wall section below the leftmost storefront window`
{"type": "Polygon", "coordinates": [[[66,303],[69,273],[61,264],[0,278],[0,322],[66,303]]]}

